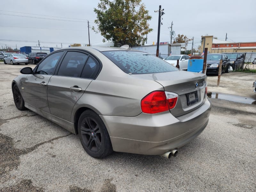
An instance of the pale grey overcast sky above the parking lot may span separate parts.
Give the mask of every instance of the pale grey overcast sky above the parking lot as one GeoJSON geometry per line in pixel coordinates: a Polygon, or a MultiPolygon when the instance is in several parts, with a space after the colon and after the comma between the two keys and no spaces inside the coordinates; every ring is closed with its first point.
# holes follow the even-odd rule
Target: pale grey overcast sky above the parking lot
{"type": "MultiPolygon", "coordinates": [[[[0,46],[67,47],[69,44],[89,44],[87,20],[95,26],[99,0],[8,0],[1,2],[0,46]],[[47,19],[45,19],[47,18],[47,19]],[[6,41],[9,40],[9,41],[6,41]]],[[[256,42],[256,1],[232,0],[142,0],[152,20],[153,32],[148,44],[157,41],[159,5],[164,9],[160,42],[170,42],[170,27],[176,35],[194,37],[194,48],[206,34],[230,42],[256,42]],[[188,3],[185,3],[188,2],[188,3]]],[[[90,29],[90,43],[102,43],[103,37],[90,29]]],[[[188,46],[191,46],[191,42],[188,46]]]]}

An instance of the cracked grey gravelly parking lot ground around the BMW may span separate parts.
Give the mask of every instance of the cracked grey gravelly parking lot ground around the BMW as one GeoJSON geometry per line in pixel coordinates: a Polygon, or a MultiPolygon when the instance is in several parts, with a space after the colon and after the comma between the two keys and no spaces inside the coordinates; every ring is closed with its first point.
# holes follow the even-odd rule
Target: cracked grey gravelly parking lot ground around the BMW
{"type": "MultiPolygon", "coordinates": [[[[116,152],[94,159],[77,135],[16,109],[11,81],[23,67],[0,63],[0,191],[256,191],[256,105],[211,99],[204,132],[170,160],[116,152]]],[[[255,79],[223,73],[216,87],[209,76],[208,92],[256,100],[255,79]]]]}

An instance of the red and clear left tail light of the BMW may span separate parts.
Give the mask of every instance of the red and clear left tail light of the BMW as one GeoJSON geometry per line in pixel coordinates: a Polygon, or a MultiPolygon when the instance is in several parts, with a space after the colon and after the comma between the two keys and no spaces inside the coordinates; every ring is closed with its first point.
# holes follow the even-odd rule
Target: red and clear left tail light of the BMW
{"type": "Polygon", "coordinates": [[[176,93],[154,91],[141,100],[141,111],[149,114],[168,111],[176,106],[177,100],[176,93]]]}

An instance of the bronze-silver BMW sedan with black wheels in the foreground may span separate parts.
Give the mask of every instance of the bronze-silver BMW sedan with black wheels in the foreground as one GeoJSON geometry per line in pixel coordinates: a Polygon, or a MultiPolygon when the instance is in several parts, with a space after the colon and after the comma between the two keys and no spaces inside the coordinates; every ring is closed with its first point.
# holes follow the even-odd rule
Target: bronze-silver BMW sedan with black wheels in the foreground
{"type": "Polygon", "coordinates": [[[13,99],[68,131],[85,151],[177,155],[208,124],[206,75],[129,48],[72,47],[12,81],[13,99]]]}

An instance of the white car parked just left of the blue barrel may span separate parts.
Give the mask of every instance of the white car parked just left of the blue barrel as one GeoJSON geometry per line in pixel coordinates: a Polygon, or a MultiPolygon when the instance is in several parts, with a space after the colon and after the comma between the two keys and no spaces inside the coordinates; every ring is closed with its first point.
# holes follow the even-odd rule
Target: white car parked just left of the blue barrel
{"type": "Polygon", "coordinates": [[[189,60],[188,55],[170,55],[164,60],[174,67],[177,65],[177,60],[179,60],[179,66],[181,70],[187,70],[188,69],[188,60],[189,60]]]}

